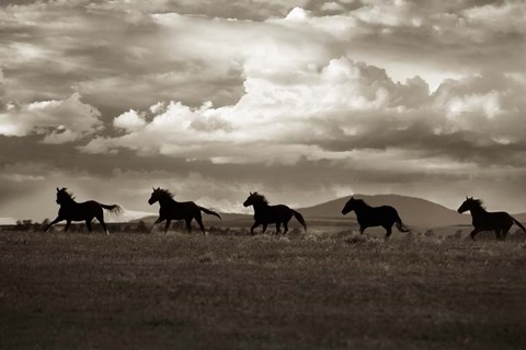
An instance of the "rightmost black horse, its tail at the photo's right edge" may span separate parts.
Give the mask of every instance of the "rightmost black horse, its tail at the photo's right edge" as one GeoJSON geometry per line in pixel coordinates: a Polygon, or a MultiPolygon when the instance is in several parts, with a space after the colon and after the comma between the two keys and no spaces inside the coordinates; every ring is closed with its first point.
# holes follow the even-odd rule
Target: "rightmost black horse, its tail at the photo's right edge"
{"type": "Polygon", "coordinates": [[[526,228],[523,226],[521,222],[513,219],[505,211],[489,212],[485,211],[485,208],[482,206],[482,200],[473,199],[473,197],[468,198],[462,202],[458,208],[457,212],[462,213],[466,211],[471,212],[472,224],[474,230],[469,234],[471,240],[474,241],[474,236],[481,231],[495,231],[496,240],[506,240],[506,234],[515,222],[525,233],[526,228]],[[502,234],[502,236],[501,236],[502,234]]]}

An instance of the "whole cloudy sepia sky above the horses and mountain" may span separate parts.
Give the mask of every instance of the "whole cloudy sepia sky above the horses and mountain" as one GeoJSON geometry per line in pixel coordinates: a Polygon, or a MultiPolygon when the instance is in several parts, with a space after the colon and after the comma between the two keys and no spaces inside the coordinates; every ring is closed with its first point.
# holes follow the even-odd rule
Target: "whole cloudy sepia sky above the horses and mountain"
{"type": "Polygon", "coordinates": [[[526,212],[526,3],[2,0],[0,221],[399,194],[526,212]]]}

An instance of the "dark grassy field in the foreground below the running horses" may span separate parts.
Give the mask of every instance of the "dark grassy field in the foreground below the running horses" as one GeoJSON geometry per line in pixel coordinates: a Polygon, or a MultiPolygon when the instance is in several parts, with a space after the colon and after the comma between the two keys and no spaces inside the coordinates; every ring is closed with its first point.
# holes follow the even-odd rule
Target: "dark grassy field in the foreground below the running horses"
{"type": "Polygon", "coordinates": [[[0,233],[3,349],[524,349],[525,240],[0,233]]]}

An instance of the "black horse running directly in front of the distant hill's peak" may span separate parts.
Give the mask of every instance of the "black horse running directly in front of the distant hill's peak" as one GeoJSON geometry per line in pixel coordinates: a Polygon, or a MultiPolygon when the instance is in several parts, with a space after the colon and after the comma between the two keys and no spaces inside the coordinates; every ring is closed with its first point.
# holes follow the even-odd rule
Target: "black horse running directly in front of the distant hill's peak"
{"type": "Polygon", "coordinates": [[[411,231],[402,223],[397,209],[390,206],[370,207],[363,199],[355,199],[354,197],[351,197],[351,199],[345,203],[345,207],[343,207],[342,214],[345,215],[353,210],[356,213],[356,219],[358,220],[361,234],[363,234],[367,228],[382,226],[386,229],[387,240],[392,233],[392,224],[395,223],[400,232],[411,231]]]}

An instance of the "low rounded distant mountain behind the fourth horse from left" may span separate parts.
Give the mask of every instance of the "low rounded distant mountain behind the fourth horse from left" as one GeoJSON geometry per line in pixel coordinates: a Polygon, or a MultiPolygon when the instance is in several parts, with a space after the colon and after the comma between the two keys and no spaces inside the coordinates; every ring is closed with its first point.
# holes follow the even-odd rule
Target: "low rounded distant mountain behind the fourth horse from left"
{"type": "MultiPolygon", "coordinates": [[[[399,195],[354,195],[354,197],[365,200],[371,207],[395,207],[403,223],[409,226],[438,228],[471,223],[470,215],[459,214],[455,210],[422,198],[399,195]]],[[[344,218],[342,209],[350,198],[351,196],[339,198],[318,206],[298,209],[298,211],[304,217],[311,219],[342,219],[344,218]]],[[[356,214],[352,212],[345,217],[355,219],[356,214]]]]}

